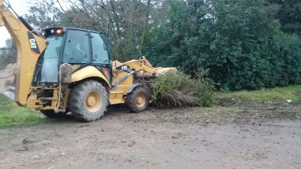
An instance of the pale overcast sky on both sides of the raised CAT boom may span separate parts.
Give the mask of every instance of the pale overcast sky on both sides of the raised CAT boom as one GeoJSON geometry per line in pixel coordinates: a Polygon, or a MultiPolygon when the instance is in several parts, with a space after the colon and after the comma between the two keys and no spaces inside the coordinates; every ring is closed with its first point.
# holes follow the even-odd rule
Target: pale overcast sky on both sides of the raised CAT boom
{"type": "MultiPolygon", "coordinates": [[[[11,3],[12,8],[14,11],[17,12],[18,15],[23,15],[26,13],[28,9],[28,4],[26,3],[27,0],[8,0],[11,3]]],[[[0,27],[0,47],[5,45],[5,40],[10,37],[9,33],[7,32],[5,26],[0,27]]]]}

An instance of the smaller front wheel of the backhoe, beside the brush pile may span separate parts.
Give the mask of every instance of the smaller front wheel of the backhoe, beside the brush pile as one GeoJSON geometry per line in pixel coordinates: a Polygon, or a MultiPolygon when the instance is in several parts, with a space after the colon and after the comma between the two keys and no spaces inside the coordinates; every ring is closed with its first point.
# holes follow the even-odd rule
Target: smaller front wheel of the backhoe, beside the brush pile
{"type": "Polygon", "coordinates": [[[143,112],[149,104],[149,98],[144,88],[136,87],[126,95],[126,106],[132,113],[143,112]]]}

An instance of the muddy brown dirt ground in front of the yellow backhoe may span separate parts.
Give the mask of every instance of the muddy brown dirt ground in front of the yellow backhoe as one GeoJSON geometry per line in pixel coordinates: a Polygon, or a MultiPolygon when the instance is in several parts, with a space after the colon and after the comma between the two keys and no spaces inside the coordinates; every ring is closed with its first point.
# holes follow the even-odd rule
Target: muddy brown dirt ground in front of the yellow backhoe
{"type": "Polygon", "coordinates": [[[89,123],[45,118],[0,130],[0,168],[300,169],[300,109],[230,99],[212,108],[114,109],[89,123]]]}

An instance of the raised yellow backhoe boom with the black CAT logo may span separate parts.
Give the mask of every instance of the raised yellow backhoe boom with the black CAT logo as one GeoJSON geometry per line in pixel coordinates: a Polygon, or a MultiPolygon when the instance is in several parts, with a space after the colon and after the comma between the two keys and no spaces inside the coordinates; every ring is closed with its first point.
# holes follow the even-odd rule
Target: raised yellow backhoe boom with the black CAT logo
{"type": "Polygon", "coordinates": [[[15,16],[7,4],[0,0],[0,26],[5,26],[13,37],[17,48],[17,64],[15,86],[15,102],[27,106],[27,97],[31,91],[31,83],[37,60],[46,49],[48,42],[28,29],[28,25],[15,16]]]}

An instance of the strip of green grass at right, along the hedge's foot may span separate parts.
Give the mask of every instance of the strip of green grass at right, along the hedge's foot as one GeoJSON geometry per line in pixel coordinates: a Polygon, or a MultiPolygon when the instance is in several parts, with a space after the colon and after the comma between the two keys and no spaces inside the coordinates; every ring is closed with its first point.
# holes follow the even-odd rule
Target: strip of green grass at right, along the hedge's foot
{"type": "Polygon", "coordinates": [[[219,93],[219,97],[231,97],[242,100],[262,100],[265,102],[273,100],[301,101],[301,85],[287,86],[281,88],[268,88],[256,91],[234,91],[230,93],[219,93]]]}

